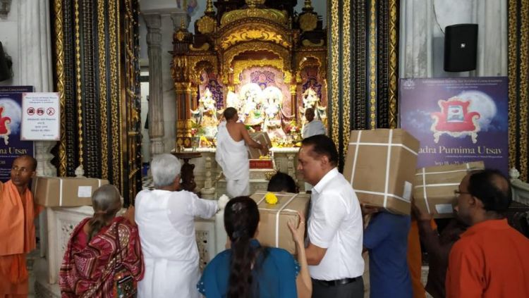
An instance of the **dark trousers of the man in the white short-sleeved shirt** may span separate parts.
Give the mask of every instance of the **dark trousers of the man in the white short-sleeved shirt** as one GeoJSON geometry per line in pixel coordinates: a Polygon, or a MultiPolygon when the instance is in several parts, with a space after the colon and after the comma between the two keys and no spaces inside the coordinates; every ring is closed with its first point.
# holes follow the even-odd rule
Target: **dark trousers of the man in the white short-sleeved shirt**
{"type": "Polygon", "coordinates": [[[312,298],[363,298],[364,280],[362,276],[353,283],[329,286],[318,280],[312,280],[312,298]]]}

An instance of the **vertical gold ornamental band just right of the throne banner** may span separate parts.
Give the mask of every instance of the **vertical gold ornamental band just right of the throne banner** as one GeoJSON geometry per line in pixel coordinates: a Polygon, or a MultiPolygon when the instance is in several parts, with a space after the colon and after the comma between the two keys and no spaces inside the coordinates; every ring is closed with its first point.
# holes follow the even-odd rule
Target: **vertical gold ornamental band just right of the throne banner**
{"type": "Polygon", "coordinates": [[[509,0],[509,168],[516,168],[516,6],[518,0],[509,0]]]}

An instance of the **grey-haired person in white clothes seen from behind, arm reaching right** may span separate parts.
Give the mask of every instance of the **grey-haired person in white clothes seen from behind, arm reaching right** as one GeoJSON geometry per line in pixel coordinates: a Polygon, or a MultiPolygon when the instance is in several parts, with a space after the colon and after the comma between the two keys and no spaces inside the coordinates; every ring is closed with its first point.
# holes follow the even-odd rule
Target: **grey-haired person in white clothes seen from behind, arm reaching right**
{"type": "Polygon", "coordinates": [[[218,207],[217,201],[176,191],[180,168],[181,163],[171,154],[154,156],[155,189],[142,190],[135,199],[135,221],[145,261],[145,275],[138,282],[140,298],[200,297],[195,216],[211,218],[218,207]]]}

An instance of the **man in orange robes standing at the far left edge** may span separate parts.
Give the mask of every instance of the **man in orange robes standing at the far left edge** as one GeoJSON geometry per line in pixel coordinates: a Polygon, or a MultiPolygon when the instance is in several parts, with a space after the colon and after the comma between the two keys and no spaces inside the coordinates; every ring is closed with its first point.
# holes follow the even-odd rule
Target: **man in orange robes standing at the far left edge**
{"type": "Polygon", "coordinates": [[[11,167],[11,180],[0,182],[0,298],[27,297],[25,255],[35,249],[35,204],[28,188],[37,161],[19,156],[11,167]]]}

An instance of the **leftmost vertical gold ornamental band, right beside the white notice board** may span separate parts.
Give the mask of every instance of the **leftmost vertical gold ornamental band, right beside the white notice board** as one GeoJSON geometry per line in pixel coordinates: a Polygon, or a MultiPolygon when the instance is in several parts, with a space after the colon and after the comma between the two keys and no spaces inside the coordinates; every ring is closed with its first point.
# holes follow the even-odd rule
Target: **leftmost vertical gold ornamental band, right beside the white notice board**
{"type": "Polygon", "coordinates": [[[61,106],[61,143],[59,144],[59,176],[66,176],[66,99],[64,97],[64,52],[63,52],[63,8],[62,0],[54,1],[55,7],[55,52],[57,56],[57,92],[61,106]]]}

